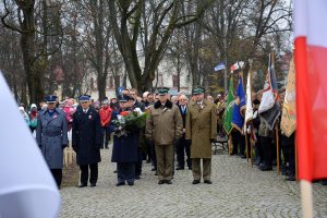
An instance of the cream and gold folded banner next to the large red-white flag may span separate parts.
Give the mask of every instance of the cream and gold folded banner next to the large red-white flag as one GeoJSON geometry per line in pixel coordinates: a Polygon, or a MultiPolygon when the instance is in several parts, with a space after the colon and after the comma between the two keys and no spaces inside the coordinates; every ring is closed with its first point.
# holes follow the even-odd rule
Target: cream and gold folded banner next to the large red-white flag
{"type": "Polygon", "coordinates": [[[284,93],[284,100],[282,104],[280,130],[286,136],[296,130],[296,106],[295,106],[295,69],[294,59],[290,62],[290,69],[288,74],[288,85],[284,93]]]}

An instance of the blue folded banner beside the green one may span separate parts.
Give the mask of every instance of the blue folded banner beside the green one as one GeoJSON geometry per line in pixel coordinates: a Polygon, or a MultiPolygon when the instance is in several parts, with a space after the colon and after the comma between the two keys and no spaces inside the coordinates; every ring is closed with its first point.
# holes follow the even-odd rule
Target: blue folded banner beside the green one
{"type": "Polygon", "coordinates": [[[245,105],[246,105],[246,99],[244,95],[242,77],[240,76],[235,101],[233,106],[233,117],[231,120],[232,126],[240,132],[242,132],[242,128],[244,124],[244,116],[242,110],[245,110],[245,105]]]}

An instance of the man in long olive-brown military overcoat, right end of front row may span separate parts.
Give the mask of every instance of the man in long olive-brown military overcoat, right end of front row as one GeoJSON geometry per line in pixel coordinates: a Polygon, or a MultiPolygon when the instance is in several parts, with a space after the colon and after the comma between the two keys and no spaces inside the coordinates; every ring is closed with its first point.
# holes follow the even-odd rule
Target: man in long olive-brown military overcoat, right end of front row
{"type": "Polygon", "coordinates": [[[192,184],[198,184],[203,174],[204,183],[211,184],[211,143],[217,136],[217,107],[204,99],[203,87],[194,88],[194,101],[189,104],[185,138],[191,141],[192,184]],[[203,173],[201,170],[203,161],[203,173]]]}

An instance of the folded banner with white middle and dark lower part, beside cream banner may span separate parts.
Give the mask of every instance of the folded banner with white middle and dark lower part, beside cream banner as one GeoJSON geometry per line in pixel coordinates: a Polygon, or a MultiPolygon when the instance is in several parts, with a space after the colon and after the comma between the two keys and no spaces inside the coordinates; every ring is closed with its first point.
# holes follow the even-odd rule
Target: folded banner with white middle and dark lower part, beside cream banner
{"type": "Polygon", "coordinates": [[[264,93],[258,108],[261,119],[267,123],[270,130],[274,129],[275,123],[280,114],[280,106],[277,101],[278,89],[275,75],[275,66],[271,55],[269,55],[268,73],[264,86],[264,93]]]}

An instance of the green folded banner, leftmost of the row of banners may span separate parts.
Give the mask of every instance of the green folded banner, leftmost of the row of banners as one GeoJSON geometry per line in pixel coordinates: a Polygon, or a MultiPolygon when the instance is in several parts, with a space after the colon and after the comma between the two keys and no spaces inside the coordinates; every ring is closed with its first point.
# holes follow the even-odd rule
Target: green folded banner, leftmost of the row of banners
{"type": "Polygon", "coordinates": [[[223,113],[223,129],[226,133],[229,135],[232,125],[231,125],[231,119],[233,116],[233,105],[234,105],[234,97],[233,97],[233,77],[230,77],[229,81],[229,89],[228,89],[228,97],[227,97],[227,102],[226,102],[226,110],[223,113]]]}

